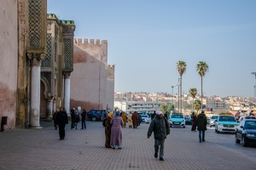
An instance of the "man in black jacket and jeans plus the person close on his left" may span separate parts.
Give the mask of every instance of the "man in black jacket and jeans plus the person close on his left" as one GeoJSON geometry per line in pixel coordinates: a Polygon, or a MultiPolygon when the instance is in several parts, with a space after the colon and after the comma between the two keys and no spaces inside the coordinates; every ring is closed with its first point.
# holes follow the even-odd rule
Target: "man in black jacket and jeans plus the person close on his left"
{"type": "Polygon", "coordinates": [[[198,131],[198,137],[199,137],[199,142],[205,142],[205,132],[207,131],[207,116],[205,114],[205,111],[201,111],[201,113],[196,116],[195,111],[192,112],[191,115],[192,119],[192,127],[191,131],[196,132],[196,127],[198,131]]]}

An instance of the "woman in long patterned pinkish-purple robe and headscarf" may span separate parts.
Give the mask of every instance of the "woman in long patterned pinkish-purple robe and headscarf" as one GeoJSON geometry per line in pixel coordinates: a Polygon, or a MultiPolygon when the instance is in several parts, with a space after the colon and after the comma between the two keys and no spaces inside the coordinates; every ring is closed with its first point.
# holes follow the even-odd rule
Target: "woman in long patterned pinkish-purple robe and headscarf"
{"type": "Polygon", "coordinates": [[[122,149],[122,126],[124,122],[119,111],[115,112],[110,123],[112,124],[110,145],[113,149],[122,149]]]}

